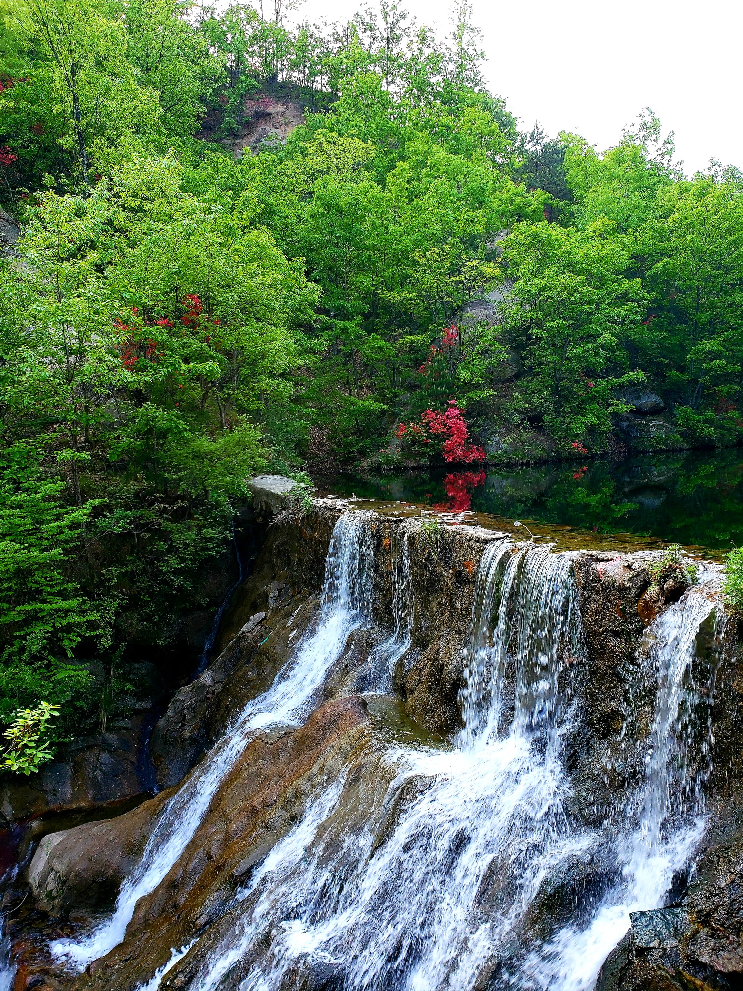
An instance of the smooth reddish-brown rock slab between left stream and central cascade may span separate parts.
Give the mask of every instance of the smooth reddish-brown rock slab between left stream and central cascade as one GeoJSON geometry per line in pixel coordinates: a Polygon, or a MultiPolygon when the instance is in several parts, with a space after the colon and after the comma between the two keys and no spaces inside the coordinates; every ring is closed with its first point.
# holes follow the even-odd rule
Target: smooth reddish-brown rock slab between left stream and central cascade
{"type": "MultiPolygon", "coordinates": [[[[134,988],[168,959],[170,946],[189,942],[229,913],[237,889],[301,817],[308,796],[325,777],[339,773],[355,747],[363,747],[370,722],[364,702],[351,696],[325,703],[298,729],[254,739],[180,859],[138,903],[126,940],[74,987],[134,988]]],[[[125,822],[117,829],[137,831],[125,822]]],[[[142,842],[148,829],[140,831],[142,842]]],[[[75,848],[81,852],[79,843],[75,848]]],[[[64,897],[64,891],[57,895],[64,897]]]]}

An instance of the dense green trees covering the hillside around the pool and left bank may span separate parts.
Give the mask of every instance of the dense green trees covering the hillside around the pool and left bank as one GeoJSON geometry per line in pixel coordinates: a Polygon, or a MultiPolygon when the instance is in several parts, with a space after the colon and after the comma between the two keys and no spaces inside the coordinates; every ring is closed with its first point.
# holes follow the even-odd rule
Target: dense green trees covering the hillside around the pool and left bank
{"type": "Polygon", "coordinates": [[[1,713],[172,640],[257,469],[399,464],[446,410],[464,460],[599,453],[636,387],[650,447],[743,436],[740,173],[650,113],[522,133],[481,59],[466,0],[444,40],[395,0],[0,2],[1,713]]]}

